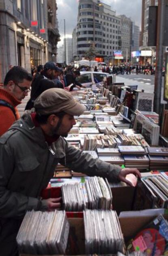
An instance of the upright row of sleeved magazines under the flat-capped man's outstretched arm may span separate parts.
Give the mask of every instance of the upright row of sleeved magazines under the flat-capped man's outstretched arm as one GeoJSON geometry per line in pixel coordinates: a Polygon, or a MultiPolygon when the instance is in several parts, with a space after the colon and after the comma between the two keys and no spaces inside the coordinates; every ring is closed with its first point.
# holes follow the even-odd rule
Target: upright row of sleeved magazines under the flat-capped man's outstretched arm
{"type": "Polygon", "coordinates": [[[61,187],[66,211],[84,209],[110,209],[112,192],[109,183],[100,177],[90,177],[85,183],[65,184],[61,187]]]}

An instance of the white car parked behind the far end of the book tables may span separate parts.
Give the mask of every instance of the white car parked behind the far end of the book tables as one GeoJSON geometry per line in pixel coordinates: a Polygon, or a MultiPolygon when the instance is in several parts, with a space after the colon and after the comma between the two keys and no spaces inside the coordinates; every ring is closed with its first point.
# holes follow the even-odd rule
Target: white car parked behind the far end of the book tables
{"type": "Polygon", "coordinates": [[[93,82],[99,87],[103,85],[103,81],[107,77],[111,78],[112,83],[112,75],[104,72],[80,71],[80,76],[77,79],[80,84],[86,87],[90,87],[93,82]]]}

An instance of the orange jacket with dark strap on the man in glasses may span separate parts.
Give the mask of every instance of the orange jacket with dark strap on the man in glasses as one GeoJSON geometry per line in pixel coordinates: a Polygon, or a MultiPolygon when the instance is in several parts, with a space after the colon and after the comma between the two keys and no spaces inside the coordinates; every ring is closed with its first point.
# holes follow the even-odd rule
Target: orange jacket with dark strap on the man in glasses
{"type": "MultiPolygon", "coordinates": [[[[21,102],[3,88],[0,88],[0,99],[6,100],[6,102],[11,104],[15,108],[16,119],[19,119],[20,115],[16,106],[21,104],[21,102]]],[[[0,136],[4,134],[4,132],[6,132],[9,127],[11,127],[16,119],[11,108],[6,106],[0,106],[0,136]]]]}

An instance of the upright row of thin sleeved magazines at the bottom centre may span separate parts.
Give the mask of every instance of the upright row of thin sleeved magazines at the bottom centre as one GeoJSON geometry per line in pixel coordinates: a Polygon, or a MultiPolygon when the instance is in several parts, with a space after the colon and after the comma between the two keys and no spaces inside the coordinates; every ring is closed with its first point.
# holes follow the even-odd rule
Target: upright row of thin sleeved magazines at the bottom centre
{"type": "Polygon", "coordinates": [[[124,253],[124,238],[115,211],[84,211],[84,231],[86,254],[124,253]]]}

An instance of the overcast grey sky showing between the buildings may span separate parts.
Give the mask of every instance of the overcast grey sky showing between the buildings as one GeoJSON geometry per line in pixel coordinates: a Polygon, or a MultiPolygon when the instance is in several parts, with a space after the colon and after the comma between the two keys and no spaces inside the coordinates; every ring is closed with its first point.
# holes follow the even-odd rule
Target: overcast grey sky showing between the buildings
{"type": "MultiPolygon", "coordinates": [[[[72,32],[77,25],[78,17],[78,0],[56,0],[57,2],[57,18],[59,33],[61,38],[64,37],[64,19],[66,24],[66,37],[72,37],[72,32]]],[[[142,0],[102,0],[116,11],[116,15],[125,14],[131,18],[136,25],[141,26],[142,0]]],[[[62,45],[58,43],[58,47],[62,45]]]]}

